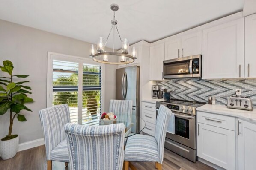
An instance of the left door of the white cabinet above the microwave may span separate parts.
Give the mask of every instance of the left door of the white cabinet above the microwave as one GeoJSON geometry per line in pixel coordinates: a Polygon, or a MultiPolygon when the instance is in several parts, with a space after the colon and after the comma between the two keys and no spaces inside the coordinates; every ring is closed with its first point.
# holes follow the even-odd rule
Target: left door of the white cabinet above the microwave
{"type": "Polygon", "coordinates": [[[165,42],[165,55],[164,60],[170,60],[173,58],[181,57],[181,38],[173,37],[169,41],[165,42]]]}

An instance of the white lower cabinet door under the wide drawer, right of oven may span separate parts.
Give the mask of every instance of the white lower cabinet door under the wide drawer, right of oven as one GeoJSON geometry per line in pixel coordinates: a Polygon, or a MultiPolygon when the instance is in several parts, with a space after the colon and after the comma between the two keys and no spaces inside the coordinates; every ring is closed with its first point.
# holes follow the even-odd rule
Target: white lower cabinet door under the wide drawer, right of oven
{"type": "Polygon", "coordinates": [[[197,156],[235,170],[235,131],[197,123],[197,156]]]}

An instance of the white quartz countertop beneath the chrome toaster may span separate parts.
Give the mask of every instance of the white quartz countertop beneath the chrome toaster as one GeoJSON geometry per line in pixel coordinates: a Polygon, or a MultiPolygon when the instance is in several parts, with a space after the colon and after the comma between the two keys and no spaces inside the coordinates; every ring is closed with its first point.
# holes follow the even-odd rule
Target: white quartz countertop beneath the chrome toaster
{"type": "Polygon", "coordinates": [[[196,110],[202,112],[215,113],[219,115],[237,117],[256,124],[256,109],[253,109],[253,111],[247,111],[240,109],[229,109],[224,105],[205,104],[201,107],[196,108],[196,110]]]}

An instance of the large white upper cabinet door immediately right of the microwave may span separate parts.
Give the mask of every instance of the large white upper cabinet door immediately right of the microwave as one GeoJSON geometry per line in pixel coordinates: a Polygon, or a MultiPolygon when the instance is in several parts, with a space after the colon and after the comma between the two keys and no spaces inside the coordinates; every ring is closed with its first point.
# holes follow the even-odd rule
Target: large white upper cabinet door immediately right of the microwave
{"type": "Polygon", "coordinates": [[[244,19],[203,30],[202,78],[244,77],[244,19]]]}

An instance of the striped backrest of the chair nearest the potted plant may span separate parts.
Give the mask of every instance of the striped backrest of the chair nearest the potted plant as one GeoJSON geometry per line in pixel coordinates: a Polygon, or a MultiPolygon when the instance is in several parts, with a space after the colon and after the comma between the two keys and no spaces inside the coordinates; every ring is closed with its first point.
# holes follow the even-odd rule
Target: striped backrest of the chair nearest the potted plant
{"type": "Polygon", "coordinates": [[[50,160],[51,151],[66,138],[64,128],[70,122],[68,104],[42,109],[39,116],[45,135],[46,159],[50,160]]]}

